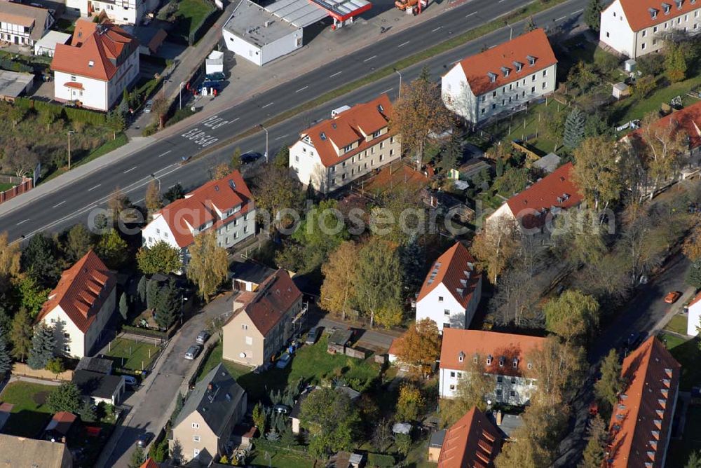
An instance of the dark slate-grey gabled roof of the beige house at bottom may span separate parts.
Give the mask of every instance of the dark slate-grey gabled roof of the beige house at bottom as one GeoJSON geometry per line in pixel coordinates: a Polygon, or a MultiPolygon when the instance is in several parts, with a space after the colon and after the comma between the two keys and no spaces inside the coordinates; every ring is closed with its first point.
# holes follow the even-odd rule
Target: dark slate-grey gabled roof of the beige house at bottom
{"type": "Polygon", "coordinates": [[[217,436],[222,436],[226,423],[240,405],[245,391],[226,370],[224,364],[209,371],[195,385],[178,414],[177,428],[191,413],[197,412],[217,436]]]}

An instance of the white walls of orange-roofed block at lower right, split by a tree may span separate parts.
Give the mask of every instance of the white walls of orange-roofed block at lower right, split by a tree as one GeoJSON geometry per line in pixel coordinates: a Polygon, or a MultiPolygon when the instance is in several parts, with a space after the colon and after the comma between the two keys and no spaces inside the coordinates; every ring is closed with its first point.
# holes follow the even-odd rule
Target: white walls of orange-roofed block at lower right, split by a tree
{"type": "MultiPolygon", "coordinates": [[[[488,374],[494,378],[494,392],[484,395],[496,403],[524,406],[536,390],[535,380],[518,376],[488,374]]],[[[440,369],[439,394],[441,398],[458,397],[458,382],[470,378],[470,373],[458,369],[440,369]]]]}

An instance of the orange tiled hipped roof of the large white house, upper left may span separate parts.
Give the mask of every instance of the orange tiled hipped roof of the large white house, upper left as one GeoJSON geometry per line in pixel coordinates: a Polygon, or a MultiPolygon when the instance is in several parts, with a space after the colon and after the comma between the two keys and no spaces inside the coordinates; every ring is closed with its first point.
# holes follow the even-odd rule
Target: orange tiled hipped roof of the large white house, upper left
{"type": "Polygon", "coordinates": [[[56,44],[51,69],[109,81],[138,47],[121,27],[79,19],[71,43],[56,44]]]}

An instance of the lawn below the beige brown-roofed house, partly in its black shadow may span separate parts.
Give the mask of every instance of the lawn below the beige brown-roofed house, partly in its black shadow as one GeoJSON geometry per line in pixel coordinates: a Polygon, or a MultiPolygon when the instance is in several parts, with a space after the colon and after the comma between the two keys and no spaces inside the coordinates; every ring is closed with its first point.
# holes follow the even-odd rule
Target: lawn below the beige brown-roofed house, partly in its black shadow
{"type": "MultiPolygon", "coordinates": [[[[366,383],[379,376],[380,366],[373,361],[372,356],[361,361],[347,356],[329,355],[326,352],[327,342],[328,337],[322,336],[315,345],[302,346],[285,369],[277,369],[273,366],[264,373],[254,374],[250,368],[233,362],[225,361],[224,366],[248,392],[250,402],[264,399],[270,390],[282,390],[288,383],[297,382],[300,378],[304,379],[305,383],[315,385],[324,379],[341,375],[348,385],[355,390],[362,390],[366,383]]],[[[219,362],[222,362],[221,342],[207,357],[198,378],[202,378],[219,362]]]]}

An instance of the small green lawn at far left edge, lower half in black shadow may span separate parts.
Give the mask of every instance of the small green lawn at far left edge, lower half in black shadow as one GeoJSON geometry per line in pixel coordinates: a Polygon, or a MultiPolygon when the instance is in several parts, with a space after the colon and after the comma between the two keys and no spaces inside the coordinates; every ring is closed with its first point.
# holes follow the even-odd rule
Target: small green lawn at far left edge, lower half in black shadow
{"type": "Polygon", "coordinates": [[[39,436],[51,418],[46,397],[55,388],[53,385],[22,381],[8,383],[0,394],[0,402],[14,406],[3,432],[22,437],[39,436]]]}

